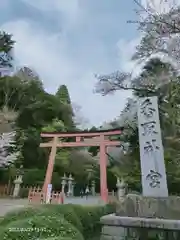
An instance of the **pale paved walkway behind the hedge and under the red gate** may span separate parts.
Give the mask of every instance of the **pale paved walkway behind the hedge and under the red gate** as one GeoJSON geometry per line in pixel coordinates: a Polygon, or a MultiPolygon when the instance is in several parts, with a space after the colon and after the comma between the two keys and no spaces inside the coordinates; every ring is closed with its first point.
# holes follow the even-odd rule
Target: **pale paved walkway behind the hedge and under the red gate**
{"type": "MultiPolygon", "coordinates": [[[[88,197],[88,199],[86,199],[85,197],[66,198],[65,204],[67,203],[80,204],[84,206],[103,204],[99,197],[88,197]]],[[[0,199],[0,217],[4,216],[9,211],[20,209],[27,206],[28,206],[27,199],[0,199]]]]}

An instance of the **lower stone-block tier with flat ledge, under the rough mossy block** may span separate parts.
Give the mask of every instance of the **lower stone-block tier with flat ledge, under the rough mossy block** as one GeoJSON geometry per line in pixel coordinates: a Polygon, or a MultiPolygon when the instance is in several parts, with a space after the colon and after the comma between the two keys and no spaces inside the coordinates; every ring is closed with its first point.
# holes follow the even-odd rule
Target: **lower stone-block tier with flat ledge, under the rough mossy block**
{"type": "Polygon", "coordinates": [[[180,220],[109,214],[101,218],[101,223],[100,240],[180,239],[180,220]]]}

